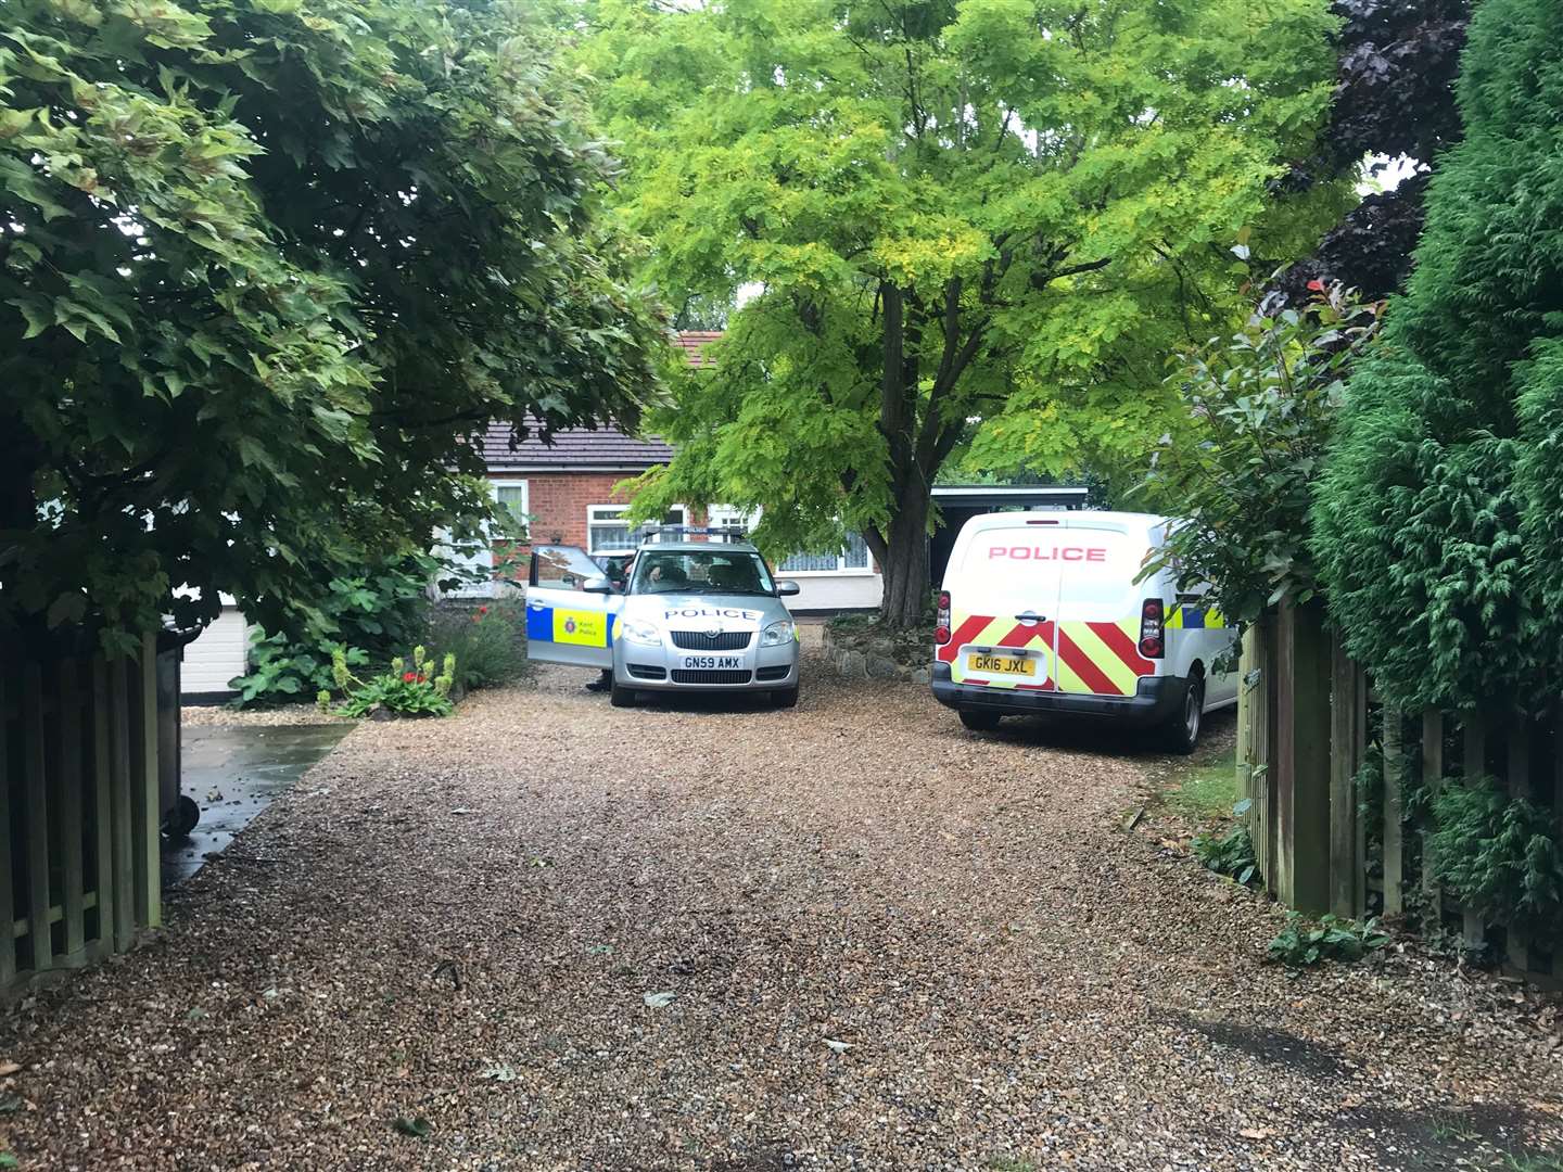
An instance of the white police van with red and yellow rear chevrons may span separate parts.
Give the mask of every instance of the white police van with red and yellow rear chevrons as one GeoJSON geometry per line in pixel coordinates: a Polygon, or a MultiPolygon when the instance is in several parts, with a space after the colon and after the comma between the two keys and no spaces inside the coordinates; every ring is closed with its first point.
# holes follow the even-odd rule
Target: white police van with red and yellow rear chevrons
{"type": "Polygon", "coordinates": [[[1205,713],[1236,703],[1216,672],[1236,631],[1171,569],[1147,513],[989,513],[961,528],[939,592],[933,695],[971,730],[1003,716],[1155,727],[1193,752],[1205,713]]]}

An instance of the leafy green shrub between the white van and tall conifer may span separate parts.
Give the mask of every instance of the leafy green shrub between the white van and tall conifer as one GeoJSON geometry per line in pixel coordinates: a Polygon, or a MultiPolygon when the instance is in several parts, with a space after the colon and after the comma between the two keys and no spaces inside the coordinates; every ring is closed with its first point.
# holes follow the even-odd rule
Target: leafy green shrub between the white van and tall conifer
{"type": "Polygon", "coordinates": [[[1216,605],[1243,625],[1283,597],[1313,597],[1310,492],[1341,378],[1377,333],[1379,313],[1321,286],[1304,309],[1261,309],[1183,356],[1168,383],[1199,423],[1163,438],[1141,486],[1183,523],[1147,575],[1171,566],[1183,584],[1211,583],[1216,605]]]}

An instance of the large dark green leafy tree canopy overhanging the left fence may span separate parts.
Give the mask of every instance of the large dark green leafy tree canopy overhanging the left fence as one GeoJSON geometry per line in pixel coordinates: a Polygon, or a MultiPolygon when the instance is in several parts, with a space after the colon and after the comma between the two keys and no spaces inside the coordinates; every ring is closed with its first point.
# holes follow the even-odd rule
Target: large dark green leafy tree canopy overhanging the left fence
{"type": "Polygon", "coordinates": [[[525,6],[3,16],[0,624],[286,627],[481,505],[485,420],[635,423],[661,325],[525,6]]]}

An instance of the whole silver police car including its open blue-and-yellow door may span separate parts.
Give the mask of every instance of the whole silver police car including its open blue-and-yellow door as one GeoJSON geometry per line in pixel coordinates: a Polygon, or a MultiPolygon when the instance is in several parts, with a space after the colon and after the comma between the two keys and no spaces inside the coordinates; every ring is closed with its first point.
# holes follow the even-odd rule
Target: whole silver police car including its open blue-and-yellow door
{"type": "Polygon", "coordinates": [[[797,592],[742,530],[653,530],[628,566],[621,555],[533,545],[527,655],[602,670],[619,708],[638,692],[724,691],[767,692],[791,708],[799,644],[782,599],[797,592]]]}

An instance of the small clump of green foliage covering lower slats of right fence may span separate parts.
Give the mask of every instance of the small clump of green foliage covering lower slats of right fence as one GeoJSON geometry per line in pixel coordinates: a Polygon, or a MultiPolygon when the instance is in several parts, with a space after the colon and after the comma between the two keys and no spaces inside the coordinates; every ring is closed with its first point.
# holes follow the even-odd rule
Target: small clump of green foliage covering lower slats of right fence
{"type": "Polygon", "coordinates": [[[1552,813],[1491,778],[1446,783],[1433,799],[1433,874],[1485,920],[1538,942],[1563,925],[1563,853],[1552,813]]]}

